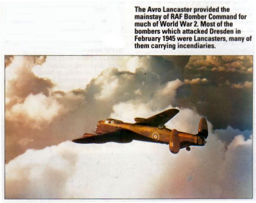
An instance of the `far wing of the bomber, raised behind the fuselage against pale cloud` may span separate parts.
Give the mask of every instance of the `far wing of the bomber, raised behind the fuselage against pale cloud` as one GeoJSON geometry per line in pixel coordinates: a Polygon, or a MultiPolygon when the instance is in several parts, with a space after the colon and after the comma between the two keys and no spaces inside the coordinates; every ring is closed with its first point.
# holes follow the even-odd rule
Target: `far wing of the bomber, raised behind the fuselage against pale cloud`
{"type": "Polygon", "coordinates": [[[178,109],[173,108],[173,109],[163,111],[159,114],[156,114],[156,115],[146,118],[146,119],[135,118],[135,121],[136,121],[136,124],[157,127],[160,124],[167,123],[170,119],[172,119],[172,117],[174,117],[176,114],[178,114],[178,112],[179,112],[178,109]]]}

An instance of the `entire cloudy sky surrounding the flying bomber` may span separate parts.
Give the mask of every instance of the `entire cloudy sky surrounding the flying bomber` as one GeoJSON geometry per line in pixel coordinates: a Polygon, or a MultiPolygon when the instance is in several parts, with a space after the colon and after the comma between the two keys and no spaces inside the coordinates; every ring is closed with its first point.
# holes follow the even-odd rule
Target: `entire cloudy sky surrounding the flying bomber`
{"type": "Polygon", "coordinates": [[[6,56],[5,197],[252,198],[252,56],[6,56]],[[72,143],[169,108],[204,147],[72,143]]]}

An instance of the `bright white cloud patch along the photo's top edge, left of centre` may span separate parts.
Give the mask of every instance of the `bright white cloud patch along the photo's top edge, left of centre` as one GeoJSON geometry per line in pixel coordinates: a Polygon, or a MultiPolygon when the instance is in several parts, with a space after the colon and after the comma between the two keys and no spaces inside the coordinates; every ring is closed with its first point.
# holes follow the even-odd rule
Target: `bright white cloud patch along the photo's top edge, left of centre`
{"type": "Polygon", "coordinates": [[[38,77],[46,77],[56,84],[54,90],[84,89],[90,81],[107,68],[125,67],[130,57],[111,56],[47,56],[43,65],[33,68],[38,77]],[[97,59],[95,59],[97,57],[97,59]]]}

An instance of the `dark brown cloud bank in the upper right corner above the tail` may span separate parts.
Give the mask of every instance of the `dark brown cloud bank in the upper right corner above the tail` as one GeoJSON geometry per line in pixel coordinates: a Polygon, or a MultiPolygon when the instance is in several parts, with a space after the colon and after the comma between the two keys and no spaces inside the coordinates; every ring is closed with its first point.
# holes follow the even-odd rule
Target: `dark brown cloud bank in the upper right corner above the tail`
{"type": "Polygon", "coordinates": [[[214,129],[252,129],[252,62],[252,56],[191,56],[175,105],[195,108],[214,129]]]}

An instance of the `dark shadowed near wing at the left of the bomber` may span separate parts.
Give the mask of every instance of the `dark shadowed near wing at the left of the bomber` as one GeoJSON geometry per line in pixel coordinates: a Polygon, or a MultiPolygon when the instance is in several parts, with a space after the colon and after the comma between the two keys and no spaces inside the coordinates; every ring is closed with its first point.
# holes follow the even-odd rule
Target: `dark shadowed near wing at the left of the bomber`
{"type": "Polygon", "coordinates": [[[125,130],[117,130],[113,132],[106,132],[99,135],[90,135],[89,137],[74,139],[72,140],[72,142],[81,144],[103,144],[111,141],[118,143],[128,143],[131,142],[132,140],[133,138],[129,134],[125,133],[125,130]]]}

